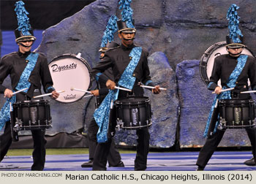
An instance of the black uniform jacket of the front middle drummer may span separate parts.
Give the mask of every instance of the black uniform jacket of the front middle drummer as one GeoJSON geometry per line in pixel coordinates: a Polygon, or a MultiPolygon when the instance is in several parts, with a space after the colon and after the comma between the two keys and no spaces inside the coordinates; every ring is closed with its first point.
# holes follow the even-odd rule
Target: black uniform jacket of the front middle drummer
{"type": "MultiPolygon", "coordinates": [[[[105,53],[104,58],[92,69],[92,74],[94,77],[99,73],[103,73],[106,69],[112,68],[114,82],[117,84],[118,80],[123,74],[124,70],[127,68],[129,62],[132,58],[129,57],[129,53],[132,48],[136,45],[130,45],[129,47],[125,47],[124,45],[115,47],[113,49],[108,50],[105,53]]],[[[135,86],[133,91],[135,93],[139,93],[139,95],[143,95],[143,89],[138,88],[138,83],[146,83],[147,81],[151,81],[150,72],[148,69],[148,52],[143,48],[142,53],[140,55],[140,61],[133,72],[133,77],[136,77],[135,86]]],[[[97,78],[97,77],[96,77],[97,78]]],[[[109,78],[105,76],[105,74],[99,75],[99,81],[106,83],[109,78]]],[[[147,85],[154,86],[154,83],[148,83],[147,85]]]]}

